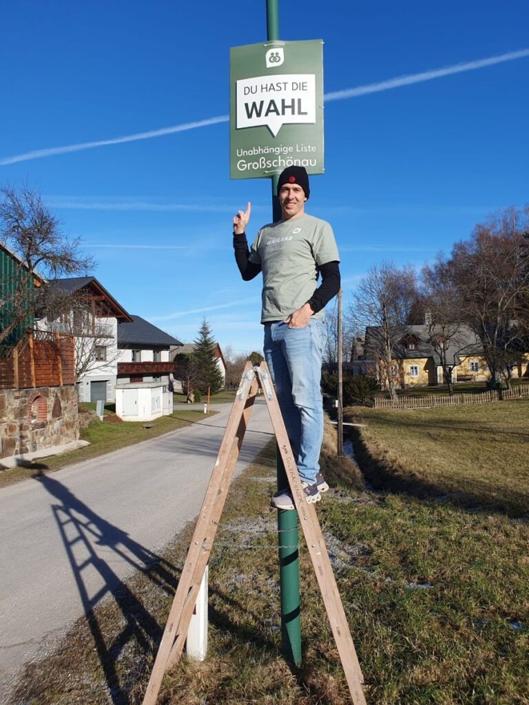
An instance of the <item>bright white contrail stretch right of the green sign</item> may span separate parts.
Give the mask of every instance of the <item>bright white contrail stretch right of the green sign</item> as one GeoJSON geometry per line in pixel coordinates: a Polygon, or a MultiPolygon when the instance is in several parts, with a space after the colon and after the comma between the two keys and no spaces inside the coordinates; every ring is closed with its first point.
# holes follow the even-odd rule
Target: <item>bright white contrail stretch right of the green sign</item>
{"type": "Polygon", "coordinates": [[[499,56],[490,56],[488,59],[478,59],[477,61],[467,61],[466,63],[456,63],[455,66],[446,66],[445,68],[434,68],[431,71],[423,73],[414,73],[409,76],[399,76],[398,78],[390,78],[387,81],[380,83],[370,83],[365,86],[357,86],[356,88],[347,88],[346,90],[336,90],[332,93],[325,94],[325,101],[343,100],[345,98],[355,98],[359,95],[367,95],[368,93],[378,93],[391,88],[399,88],[408,86],[412,83],[421,83],[422,81],[431,81],[434,78],[442,78],[450,76],[453,73],[463,73],[463,71],[475,71],[476,68],[485,68],[485,66],[494,66],[496,63],[504,63],[504,61],[514,61],[514,59],[523,59],[529,56],[529,49],[521,49],[520,51],[511,51],[509,54],[500,54],[499,56]]]}

